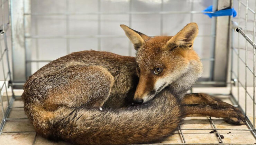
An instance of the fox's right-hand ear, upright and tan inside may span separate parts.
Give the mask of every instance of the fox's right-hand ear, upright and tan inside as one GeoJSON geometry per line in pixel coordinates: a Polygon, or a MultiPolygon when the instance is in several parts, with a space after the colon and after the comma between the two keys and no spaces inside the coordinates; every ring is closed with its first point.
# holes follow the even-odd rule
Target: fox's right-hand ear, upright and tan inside
{"type": "Polygon", "coordinates": [[[188,23],[180,32],[166,43],[166,48],[172,49],[178,46],[191,48],[197,35],[198,25],[196,23],[188,23]]]}

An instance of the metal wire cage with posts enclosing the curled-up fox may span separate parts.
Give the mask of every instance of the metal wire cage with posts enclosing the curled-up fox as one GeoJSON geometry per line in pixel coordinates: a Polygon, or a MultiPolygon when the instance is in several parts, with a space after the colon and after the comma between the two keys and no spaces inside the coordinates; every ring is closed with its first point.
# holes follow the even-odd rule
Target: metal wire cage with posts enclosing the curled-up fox
{"type": "MultiPolygon", "coordinates": [[[[186,0],[190,3],[189,11],[168,11],[164,9],[164,4],[167,0],[156,0],[159,4],[157,11],[134,11],[134,2],[139,0],[124,0],[127,4],[127,9],[124,11],[104,11],[102,2],[104,0],[97,0],[97,10],[93,12],[73,12],[69,5],[72,0],[64,0],[65,11],[61,12],[33,12],[33,0],[2,0],[1,2],[1,26],[0,26],[0,64],[3,69],[3,77],[0,81],[0,101],[1,101],[1,125],[0,125],[0,139],[4,134],[9,133],[27,133],[35,131],[8,131],[4,130],[5,124],[10,120],[19,122],[27,118],[13,118],[10,117],[10,112],[22,106],[13,106],[15,101],[20,99],[19,95],[15,95],[15,89],[19,89],[24,84],[26,78],[30,76],[35,70],[39,69],[51,60],[39,58],[39,40],[40,39],[63,39],[65,46],[62,51],[66,54],[72,52],[71,40],[77,38],[93,38],[96,41],[97,50],[102,50],[106,38],[125,38],[124,35],[105,35],[102,32],[102,17],[108,15],[126,15],[127,19],[124,21],[128,26],[132,26],[133,17],[136,15],[157,15],[159,17],[159,33],[164,34],[164,20],[168,15],[189,14],[190,21],[193,21],[194,15],[202,14],[201,10],[194,9],[194,2],[196,0],[186,0]],[[95,33],[93,35],[73,35],[70,30],[70,18],[72,16],[89,16],[95,17],[95,33]],[[37,17],[56,16],[63,17],[64,25],[66,26],[63,35],[40,35],[38,30],[37,17]],[[33,26],[34,25],[34,26],[33,26]],[[31,30],[33,27],[34,30],[31,30]],[[34,31],[34,32],[32,32],[34,31]],[[11,34],[11,35],[10,35],[11,34]],[[11,62],[9,54],[9,43],[11,43],[11,62]],[[41,63],[41,64],[40,64],[41,63]],[[8,89],[9,88],[9,89],[8,89]],[[6,103],[6,104],[4,104],[6,103]]],[[[115,0],[112,0],[112,2],[115,0]]],[[[143,1],[143,0],[142,0],[143,1]]],[[[73,1],[74,2],[74,1],[73,1]]],[[[232,18],[230,16],[214,17],[211,19],[211,30],[208,33],[202,33],[199,37],[209,38],[211,45],[209,45],[209,54],[207,58],[202,58],[202,61],[207,61],[209,67],[209,77],[202,78],[198,86],[227,86],[227,94],[211,94],[213,96],[225,96],[234,106],[239,107],[246,116],[246,128],[219,128],[215,120],[208,117],[210,128],[186,128],[180,127],[179,134],[182,143],[158,143],[163,144],[218,144],[224,145],[225,139],[221,138],[221,131],[238,131],[250,133],[256,142],[255,130],[255,26],[256,26],[256,2],[249,0],[212,0],[213,10],[222,10],[234,6],[238,10],[238,16],[232,18]],[[253,4],[250,2],[254,2],[253,4]],[[252,6],[252,7],[251,7],[252,6]],[[254,8],[253,8],[254,7],[254,8]],[[253,21],[248,19],[252,16],[253,21]],[[248,25],[248,22],[250,25],[248,25]],[[241,24],[244,25],[242,26],[241,24]],[[250,27],[250,29],[248,29],[250,27]],[[249,53],[249,54],[248,54],[249,53]],[[252,57],[251,59],[248,59],[252,57]],[[249,61],[248,61],[249,60],[249,61]],[[251,75],[251,76],[249,76],[251,75]],[[252,82],[253,81],[253,82],[252,82]],[[249,86],[252,86],[249,88],[249,86]],[[241,98],[245,98],[241,99],[241,98]],[[252,117],[248,117],[248,113],[252,117]],[[212,143],[190,143],[186,141],[185,131],[215,131],[216,142],[212,143]]],[[[134,51],[132,45],[127,41],[127,55],[133,56],[134,51]]],[[[192,90],[191,90],[192,91],[192,90]]],[[[205,132],[204,132],[205,133],[205,132]]],[[[237,133],[237,135],[239,135],[237,133]]],[[[37,134],[35,133],[33,142],[36,143],[37,134]]],[[[229,143],[228,143],[229,144],[229,143]]]]}

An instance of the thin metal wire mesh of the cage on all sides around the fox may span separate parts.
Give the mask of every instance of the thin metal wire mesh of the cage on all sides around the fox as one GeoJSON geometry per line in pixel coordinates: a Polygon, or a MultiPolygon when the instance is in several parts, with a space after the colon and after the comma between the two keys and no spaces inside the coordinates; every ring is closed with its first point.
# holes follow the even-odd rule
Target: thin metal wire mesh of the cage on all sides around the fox
{"type": "MultiPolygon", "coordinates": [[[[100,3],[100,0],[98,0],[99,3],[100,3]]],[[[252,8],[249,7],[249,0],[246,0],[246,3],[242,2],[241,0],[235,0],[234,2],[238,2],[238,18],[237,18],[237,27],[235,29],[235,31],[238,32],[239,35],[237,35],[237,39],[235,40],[233,37],[234,35],[232,35],[232,41],[237,41],[237,46],[234,46],[234,42],[232,42],[232,46],[231,46],[231,82],[235,82],[236,83],[236,87],[232,86],[233,83],[230,84],[230,94],[211,94],[211,95],[215,95],[215,96],[227,96],[228,99],[230,99],[232,101],[232,103],[236,106],[238,106],[241,110],[245,110],[245,115],[248,115],[247,114],[247,107],[249,106],[247,101],[249,101],[250,103],[252,103],[253,105],[253,117],[249,118],[247,116],[247,120],[246,120],[246,123],[247,123],[247,128],[236,128],[236,126],[234,128],[230,127],[230,128],[219,128],[218,125],[216,125],[216,121],[218,121],[218,119],[212,119],[211,117],[208,117],[208,121],[209,121],[209,125],[211,127],[209,128],[186,128],[186,127],[183,127],[183,126],[180,126],[179,127],[179,131],[175,134],[179,134],[180,135],[180,138],[181,138],[181,141],[182,143],[158,143],[158,144],[155,144],[155,145],[171,145],[171,144],[180,144],[180,145],[200,145],[200,144],[203,144],[203,145],[225,145],[225,144],[230,144],[230,143],[225,143],[225,139],[222,139],[221,138],[221,134],[223,134],[222,131],[238,131],[238,133],[236,134],[237,136],[239,134],[243,134],[243,133],[251,133],[254,137],[256,137],[256,132],[255,132],[255,49],[256,49],[256,45],[255,45],[255,21],[256,21],[256,14],[255,14],[255,10],[256,10],[256,4],[255,4],[255,8],[254,10],[252,8]],[[240,19],[241,19],[241,7],[245,7],[246,11],[245,11],[245,28],[242,29],[240,26],[241,26],[241,23],[240,23],[240,19]],[[254,14],[254,24],[253,24],[253,37],[250,38],[247,34],[248,34],[248,29],[247,29],[247,21],[248,21],[248,13],[251,12],[254,14]],[[245,41],[245,58],[241,57],[240,55],[243,53],[241,52],[240,50],[240,41],[245,41]],[[247,53],[248,53],[248,45],[251,45],[253,47],[253,69],[251,69],[249,66],[248,66],[248,57],[247,57],[247,53]],[[237,58],[235,59],[235,56],[237,56],[237,58]],[[245,67],[241,68],[239,64],[244,64],[245,67]],[[236,67],[237,68],[236,68],[236,67]],[[248,82],[247,82],[247,78],[246,78],[246,81],[245,81],[245,84],[243,84],[243,81],[241,81],[241,76],[243,76],[242,73],[239,73],[241,70],[245,71],[245,78],[247,77],[247,74],[248,73],[252,73],[253,74],[253,95],[251,93],[249,93],[250,90],[248,90],[248,82]],[[237,71],[237,73],[236,73],[237,71]],[[241,93],[241,89],[244,90],[244,93],[241,93]],[[234,94],[234,91],[237,91],[235,94],[234,94]],[[245,95],[245,102],[244,102],[244,107],[241,105],[241,103],[243,103],[240,99],[239,96],[241,95],[245,95]],[[249,98],[248,98],[249,97],[249,98]],[[200,131],[214,131],[216,132],[216,142],[213,142],[213,143],[190,143],[190,139],[188,139],[188,134],[194,134],[194,133],[198,133],[200,134],[200,131]],[[188,131],[193,131],[192,133],[191,132],[188,132],[188,131]],[[242,133],[241,133],[242,132],[242,133]]],[[[9,1],[4,1],[2,0],[2,3],[5,3],[5,2],[9,2],[9,1]]],[[[176,12],[176,11],[170,11],[170,12],[164,12],[162,11],[162,8],[163,8],[163,0],[161,0],[162,2],[162,5],[161,5],[161,11],[160,12],[132,12],[131,11],[131,3],[132,3],[132,0],[130,0],[129,2],[129,11],[128,12],[101,12],[101,9],[100,9],[100,4],[98,5],[98,12],[94,12],[94,13],[71,13],[71,12],[68,12],[69,8],[68,8],[68,5],[69,5],[69,0],[66,0],[66,8],[67,8],[67,12],[66,13],[51,13],[51,14],[48,14],[48,13],[25,13],[25,15],[34,15],[34,16],[49,16],[49,15],[64,15],[67,19],[66,21],[66,35],[64,36],[40,36],[40,35],[37,35],[37,32],[38,32],[38,27],[36,27],[36,35],[31,35],[31,36],[25,36],[26,38],[33,38],[33,39],[36,39],[36,60],[27,60],[27,63],[30,63],[30,62],[37,62],[37,69],[39,69],[39,62],[49,62],[51,60],[40,60],[39,59],[39,51],[38,51],[38,38],[61,38],[61,39],[66,39],[66,44],[67,44],[67,47],[66,47],[66,53],[70,53],[70,48],[69,48],[69,43],[70,43],[70,39],[73,39],[73,38],[97,38],[98,39],[98,50],[101,50],[101,39],[102,38],[111,38],[111,37],[124,37],[124,36],[118,36],[118,35],[112,35],[112,36],[104,36],[104,35],[101,35],[101,31],[100,31],[100,27],[101,27],[101,21],[98,21],[98,33],[97,35],[90,35],[90,36],[73,36],[70,34],[70,30],[68,29],[68,25],[69,22],[68,22],[68,19],[70,16],[72,15],[87,15],[87,14],[93,14],[93,15],[97,15],[98,16],[98,20],[100,20],[100,17],[102,15],[106,15],[106,14],[128,14],[129,15],[129,26],[131,26],[131,17],[132,17],[132,14],[160,14],[161,18],[160,18],[160,34],[163,34],[163,15],[164,14],[181,14],[181,13],[187,13],[187,14],[191,14],[191,21],[193,21],[193,14],[196,14],[196,13],[202,13],[201,11],[193,11],[193,6],[191,7],[191,11],[186,11],[186,12],[176,12]]],[[[1,5],[1,10],[4,11],[4,9],[6,9],[6,7],[4,7],[4,5],[2,4],[1,5]]],[[[8,56],[8,45],[7,45],[7,37],[6,37],[6,31],[8,30],[8,26],[9,26],[9,22],[8,23],[4,23],[4,16],[2,14],[2,27],[3,30],[1,32],[1,35],[0,35],[0,63],[2,64],[2,69],[3,69],[3,84],[1,84],[1,88],[0,88],[0,101],[1,101],[1,111],[2,111],[2,122],[1,122],[1,126],[0,126],[0,135],[1,134],[10,134],[10,133],[35,133],[35,131],[3,131],[3,128],[4,128],[4,125],[6,124],[6,122],[8,121],[11,121],[11,120],[17,120],[17,121],[20,121],[20,120],[24,120],[24,119],[27,119],[26,117],[17,117],[17,118],[11,118],[9,115],[10,115],[10,112],[11,110],[13,109],[17,109],[17,108],[23,108],[22,106],[16,106],[16,107],[13,107],[13,103],[17,100],[20,99],[19,96],[15,96],[14,93],[13,93],[13,89],[12,89],[12,79],[11,79],[11,71],[10,71],[10,63],[9,63],[9,56],[8,56]],[[1,44],[4,44],[4,48],[2,48],[1,44]],[[6,61],[3,61],[3,58],[4,56],[6,56],[6,61]],[[4,66],[7,66],[7,74],[5,73],[5,69],[6,67],[4,66]],[[7,81],[9,81],[9,85],[7,84],[7,81]],[[10,95],[10,92],[8,91],[8,86],[11,87],[11,95],[10,95]],[[5,95],[3,95],[5,93],[5,95]],[[7,106],[6,108],[4,108],[4,103],[3,103],[3,97],[6,97],[7,99],[7,106]]],[[[37,21],[36,21],[37,22],[37,21]]],[[[37,24],[36,24],[37,26],[37,24]]],[[[236,32],[233,32],[233,33],[236,33],[236,32]]],[[[199,36],[200,37],[200,36],[199,36]]],[[[207,36],[204,36],[202,35],[201,37],[214,37],[213,35],[207,35],[207,36]]],[[[129,43],[129,54],[131,54],[131,44],[129,43]]],[[[212,59],[211,59],[212,60],[212,59]]],[[[1,116],[1,115],[0,115],[1,116]]],[[[209,133],[205,133],[203,132],[202,134],[206,135],[206,134],[209,134],[209,133]]],[[[33,142],[31,144],[36,144],[36,140],[37,140],[37,133],[35,133],[35,135],[33,136],[33,142]]],[[[254,140],[256,141],[256,140],[254,140]]],[[[253,143],[252,143],[253,144],[253,143]]]]}

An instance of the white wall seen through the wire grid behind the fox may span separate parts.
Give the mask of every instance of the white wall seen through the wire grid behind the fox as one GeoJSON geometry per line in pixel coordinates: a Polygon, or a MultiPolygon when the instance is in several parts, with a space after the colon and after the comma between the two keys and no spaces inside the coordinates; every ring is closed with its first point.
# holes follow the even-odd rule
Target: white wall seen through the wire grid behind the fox
{"type": "MultiPolygon", "coordinates": [[[[61,12],[98,12],[98,0],[32,0],[33,13],[61,13],[61,12]]],[[[202,11],[212,4],[212,0],[164,0],[163,11],[191,11],[193,2],[194,11],[202,11]]],[[[129,0],[101,0],[102,12],[127,12],[129,11],[129,0]]],[[[161,11],[161,0],[132,0],[131,11],[161,11]]],[[[211,19],[204,14],[165,14],[163,15],[163,35],[175,35],[187,23],[193,22],[199,25],[199,35],[211,34],[211,19]]],[[[98,16],[80,15],[69,17],[70,35],[97,35],[98,16]]],[[[129,25],[128,14],[108,14],[101,16],[102,35],[125,36],[120,24],[129,25]]],[[[132,14],[131,28],[145,33],[149,36],[160,35],[159,14],[132,14]]],[[[33,16],[32,35],[66,35],[66,16],[33,16]],[[37,25],[36,25],[37,24],[37,25]],[[36,30],[37,27],[37,30],[36,30]]],[[[135,55],[135,50],[129,48],[129,39],[102,38],[101,50],[114,52],[120,55],[135,55]],[[131,52],[131,53],[130,53],[131,52]]],[[[198,37],[195,40],[194,49],[201,58],[210,57],[211,37],[198,37]]],[[[67,54],[66,39],[33,39],[32,59],[33,60],[54,60],[67,54]],[[36,57],[38,45],[39,56],[36,57]]],[[[70,51],[98,50],[97,38],[70,39],[70,51]]],[[[47,62],[39,62],[42,67],[47,62]]],[[[209,61],[203,61],[203,77],[209,77],[209,61]]],[[[32,71],[37,70],[36,62],[32,63],[32,71]]]]}

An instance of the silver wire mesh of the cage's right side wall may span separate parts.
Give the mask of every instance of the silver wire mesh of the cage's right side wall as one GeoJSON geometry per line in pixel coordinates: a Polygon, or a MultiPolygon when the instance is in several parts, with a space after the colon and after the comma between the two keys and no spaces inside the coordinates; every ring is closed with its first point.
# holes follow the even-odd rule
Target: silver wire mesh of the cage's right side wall
{"type": "MultiPolygon", "coordinates": [[[[238,32],[239,34],[237,35],[237,46],[234,46],[234,43],[232,43],[232,46],[231,46],[231,55],[232,55],[232,59],[234,59],[234,56],[237,58],[236,60],[236,64],[234,64],[233,62],[233,65],[236,65],[237,69],[234,70],[234,67],[231,68],[231,77],[232,79],[234,79],[236,82],[237,82],[237,95],[233,94],[234,92],[232,92],[232,86],[231,86],[231,94],[232,96],[234,97],[234,95],[236,96],[236,101],[237,103],[239,104],[241,102],[240,100],[240,92],[241,92],[241,89],[244,90],[244,96],[245,96],[245,100],[244,100],[244,107],[243,109],[245,110],[245,115],[247,116],[248,114],[248,103],[252,102],[252,114],[253,114],[253,117],[252,118],[249,118],[247,116],[247,121],[248,121],[248,124],[251,128],[253,128],[255,130],[255,21],[256,21],[256,14],[255,14],[255,10],[256,10],[256,3],[254,4],[254,10],[252,8],[249,8],[249,0],[246,0],[246,3],[244,3],[243,1],[241,0],[237,0],[238,1],[238,19],[237,19],[237,27],[234,27],[235,28],[235,31],[238,32]],[[244,17],[244,29],[241,28],[241,7],[244,7],[245,8],[245,17],[244,17]],[[248,11],[249,10],[249,11],[248,11]],[[248,15],[249,15],[249,12],[253,13],[253,35],[252,37],[250,37],[249,33],[248,33],[248,15]],[[241,36],[240,36],[241,35],[241,36]],[[241,39],[241,37],[243,39],[241,39]],[[245,57],[242,56],[241,54],[241,46],[240,46],[240,43],[241,41],[245,41],[245,57]],[[248,65],[248,44],[252,46],[252,49],[253,49],[253,68],[250,68],[250,65],[248,65]],[[240,73],[241,73],[241,69],[240,69],[240,64],[243,64],[245,66],[245,69],[242,69],[244,70],[244,77],[245,77],[245,80],[242,81],[241,80],[241,77],[240,77],[240,73]],[[248,76],[250,74],[253,75],[252,79],[253,79],[253,90],[251,93],[250,90],[248,90],[248,76]],[[248,98],[249,97],[249,98],[248,98]],[[250,99],[250,100],[248,100],[250,99]]],[[[234,35],[232,35],[234,37],[234,35]]],[[[234,38],[232,38],[232,40],[234,40],[234,38]]],[[[249,83],[251,82],[251,80],[249,80],[249,83]]],[[[241,107],[241,105],[239,105],[241,107]]],[[[242,107],[241,107],[242,108],[242,107]]],[[[255,132],[254,132],[255,134],[255,132]]]]}

